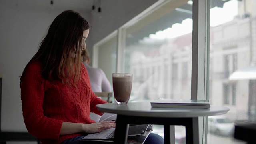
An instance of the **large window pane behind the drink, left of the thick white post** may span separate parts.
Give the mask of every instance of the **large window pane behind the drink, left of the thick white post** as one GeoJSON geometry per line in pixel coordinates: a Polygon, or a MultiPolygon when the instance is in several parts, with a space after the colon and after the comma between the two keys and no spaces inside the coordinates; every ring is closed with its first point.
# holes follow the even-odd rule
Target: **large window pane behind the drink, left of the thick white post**
{"type": "Polygon", "coordinates": [[[188,0],[167,0],[126,26],[124,34],[122,72],[143,77],[134,79],[130,101],[190,98],[192,4],[188,0]]]}

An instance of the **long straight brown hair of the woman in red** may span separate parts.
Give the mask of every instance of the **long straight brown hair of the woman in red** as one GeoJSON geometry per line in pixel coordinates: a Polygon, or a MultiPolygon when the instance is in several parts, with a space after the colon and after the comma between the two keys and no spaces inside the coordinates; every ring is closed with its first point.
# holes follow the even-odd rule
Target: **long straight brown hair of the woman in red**
{"type": "MultiPolygon", "coordinates": [[[[81,75],[83,31],[89,28],[88,22],[78,12],[72,10],[62,12],[48,28],[38,52],[27,66],[32,62],[40,61],[44,78],[51,81],[60,80],[68,84],[70,78],[73,78],[72,84],[76,85],[81,75]]],[[[20,76],[20,85],[27,66],[20,76]]]]}

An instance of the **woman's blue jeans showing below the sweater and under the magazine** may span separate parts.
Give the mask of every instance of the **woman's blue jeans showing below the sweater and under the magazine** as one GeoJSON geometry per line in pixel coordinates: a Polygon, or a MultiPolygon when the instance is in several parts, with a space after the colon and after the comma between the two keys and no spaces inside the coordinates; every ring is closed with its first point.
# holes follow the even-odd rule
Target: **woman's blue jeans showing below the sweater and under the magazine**
{"type": "MultiPolygon", "coordinates": [[[[109,142],[89,142],[89,141],[80,141],[84,136],[76,136],[65,140],[62,144],[110,144],[109,142]]],[[[145,140],[144,144],[164,144],[164,138],[158,134],[150,133],[145,140]]]]}

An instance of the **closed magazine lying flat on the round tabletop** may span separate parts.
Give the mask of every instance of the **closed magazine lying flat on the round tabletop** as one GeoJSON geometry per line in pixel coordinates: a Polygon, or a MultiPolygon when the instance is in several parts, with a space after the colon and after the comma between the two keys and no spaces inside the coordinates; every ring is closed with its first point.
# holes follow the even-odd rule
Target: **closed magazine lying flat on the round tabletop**
{"type": "Polygon", "coordinates": [[[210,108],[209,100],[172,100],[160,98],[150,102],[152,108],[210,108]]]}

